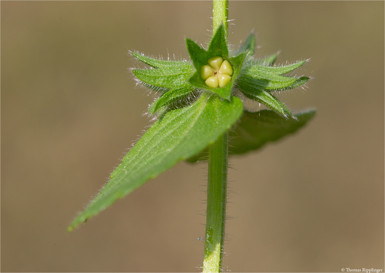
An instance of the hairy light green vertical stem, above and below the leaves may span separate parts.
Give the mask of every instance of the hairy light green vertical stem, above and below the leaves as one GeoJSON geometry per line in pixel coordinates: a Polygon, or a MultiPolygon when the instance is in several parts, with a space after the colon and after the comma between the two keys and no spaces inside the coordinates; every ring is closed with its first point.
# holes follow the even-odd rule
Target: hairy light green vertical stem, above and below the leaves
{"type": "MultiPolygon", "coordinates": [[[[213,1],[213,32],[223,23],[228,36],[228,0],[213,1]]],[[[209,146],[203,272],[220,272],[226,220],[228,132],[209,146]]]]}

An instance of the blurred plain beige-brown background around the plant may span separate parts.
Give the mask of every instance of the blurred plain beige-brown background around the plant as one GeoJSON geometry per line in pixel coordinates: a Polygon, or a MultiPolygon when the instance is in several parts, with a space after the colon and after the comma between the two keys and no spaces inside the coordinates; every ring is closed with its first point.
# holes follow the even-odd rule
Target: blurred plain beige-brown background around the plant
{"type": "MultiPolygon", "coordinates": [[[[72,233],[148,126],[128,50],[188,57],[211,2],[1,2],[1,271],[198,272],[205,170],[179,163],[72,233]]],[[[231,160],[233,272],[384,269],[384,2],[231,1],[229,41],[311,58],[302,131],[231,160]]]]}

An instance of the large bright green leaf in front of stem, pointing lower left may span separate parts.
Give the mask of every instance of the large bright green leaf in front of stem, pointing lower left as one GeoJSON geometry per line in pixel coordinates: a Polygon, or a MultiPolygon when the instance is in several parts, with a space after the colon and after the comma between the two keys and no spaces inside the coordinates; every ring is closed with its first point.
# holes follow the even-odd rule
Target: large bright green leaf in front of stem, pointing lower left
{"type": "Polygon", "coordinates": [[[242,112],[239,98],[222,101],[219,96],[206,92],[191,106],[167,112],[126,154],[112,172],[110,181],[75,218],[68,231],[178,161],[202,151],[228,130],[242,112]]]}

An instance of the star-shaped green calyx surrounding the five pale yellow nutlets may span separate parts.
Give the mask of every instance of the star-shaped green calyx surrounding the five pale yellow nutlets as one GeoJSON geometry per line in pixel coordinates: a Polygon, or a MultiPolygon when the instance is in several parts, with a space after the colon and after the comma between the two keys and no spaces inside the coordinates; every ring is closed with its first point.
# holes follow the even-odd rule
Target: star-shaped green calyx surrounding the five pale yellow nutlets
{"type": "Polygon", "coordinates": [[[229,100],[231,95],[231,88],[233,87],[234,81],[241,71],[243,60],[246,53],[239,54],[236,57],[229,57],[227,48],[227,41],[225,37],[224,26],[220,25],[215,32],[213,39],[209,44],[209,48],[206,51],[191,39],[186,39],[187,50],[190,54],[190,58],[194,64],[196,71],[189,77],[188,82],[199,89],[210,90],[211,92],[219,94],[224,99],[229,100]],[[212,57],[220,56],[233,67],[233,74],[231,75],[231,81],[224,87],[211,88],[208,87],[204,80],[201,78],[201,67],[208,64],[208,59],[212,57]]]}

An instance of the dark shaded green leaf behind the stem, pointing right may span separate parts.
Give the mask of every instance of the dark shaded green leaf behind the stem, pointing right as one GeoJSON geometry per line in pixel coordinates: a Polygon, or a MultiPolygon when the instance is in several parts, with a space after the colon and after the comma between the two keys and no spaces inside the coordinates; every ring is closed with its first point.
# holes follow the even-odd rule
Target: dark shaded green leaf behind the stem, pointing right
{"type": "MultiPolygon", "coordinates": [[[[277,141],[296,132],[315,116],[310,110],[285,119],[271,110],[250,113],[244,111],[234,130],[229,131],[229,155],[241,155],[262,148],[269,141],[277,141]]],[[[206,160],[208,149],[186,159],[189,163],[206,160]]]]}

